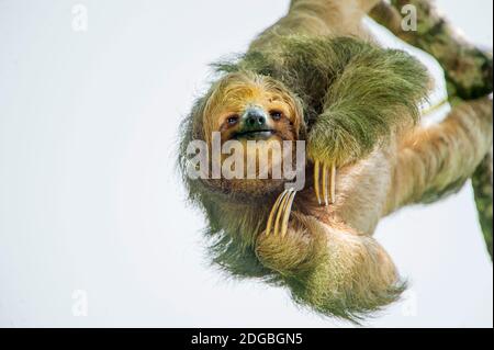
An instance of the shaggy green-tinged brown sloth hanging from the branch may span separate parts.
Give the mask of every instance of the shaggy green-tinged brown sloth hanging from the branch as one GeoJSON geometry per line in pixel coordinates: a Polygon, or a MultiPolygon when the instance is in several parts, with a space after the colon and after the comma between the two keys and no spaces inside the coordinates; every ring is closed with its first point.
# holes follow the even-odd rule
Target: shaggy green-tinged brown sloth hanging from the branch
{"type": "MultiPolygon", "coordinates": [[[[179,150],[216,264],[356,323],[406,289],[372,237],[379,221],[456,192],[492,146],[487,97],[420,124],[431,79],[417,59],[380,47],[366,31],[362,19],[378,2],[292,0],[247,53],[214,65],[218,79],[181,125],[179,150]],[[211,146],[214,133],[221,145],[304,142],[305,185],[192,179],[188,145],[211,146]]],[[[248,157],[259,162],[257,154],[248,157]]],[[[273,162],[267,167],[272,172],[273,162]]]]}

